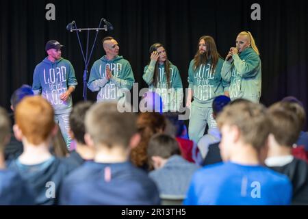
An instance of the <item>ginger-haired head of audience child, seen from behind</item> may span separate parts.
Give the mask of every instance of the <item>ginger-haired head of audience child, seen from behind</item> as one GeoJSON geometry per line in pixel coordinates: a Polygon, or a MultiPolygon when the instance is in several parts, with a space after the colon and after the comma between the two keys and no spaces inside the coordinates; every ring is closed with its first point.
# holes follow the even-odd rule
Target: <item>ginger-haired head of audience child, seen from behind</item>
{"type": "Polygon", "coordinates": [[[53,116],[53,107],[42,96],[26,96],[16,106],[14,133],[30,144],[46,142],[57,132],[53,116]]]}

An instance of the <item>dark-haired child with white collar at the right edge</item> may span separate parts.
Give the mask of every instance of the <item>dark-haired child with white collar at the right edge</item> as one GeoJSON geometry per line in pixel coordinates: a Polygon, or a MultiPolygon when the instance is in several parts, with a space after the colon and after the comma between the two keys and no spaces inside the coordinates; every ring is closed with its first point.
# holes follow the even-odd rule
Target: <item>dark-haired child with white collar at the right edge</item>
{"type": "Polygon", "coordinates": [[[292,156],[292,146],[302,128],[297,112],[305,111],[298,103],[290,102],[275,103],[268,110],[272,130],[265,164],[289,177],[293,185],[292,204],[308,205],[308,164],[292,156]]]}

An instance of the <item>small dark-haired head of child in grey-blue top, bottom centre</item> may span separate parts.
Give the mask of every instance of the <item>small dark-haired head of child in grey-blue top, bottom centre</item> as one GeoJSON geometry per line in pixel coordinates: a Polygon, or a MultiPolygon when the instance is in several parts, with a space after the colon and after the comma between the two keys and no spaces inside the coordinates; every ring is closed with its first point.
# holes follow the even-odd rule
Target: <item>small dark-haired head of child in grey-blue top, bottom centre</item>
{"type": "Polygon", "coordinates": [[[172,155],[181,155],[179,144],[175,138],[166,134],[157,133],[149,141],[147,155],[150,166],[162,167],[164,160],[172,155]]]}

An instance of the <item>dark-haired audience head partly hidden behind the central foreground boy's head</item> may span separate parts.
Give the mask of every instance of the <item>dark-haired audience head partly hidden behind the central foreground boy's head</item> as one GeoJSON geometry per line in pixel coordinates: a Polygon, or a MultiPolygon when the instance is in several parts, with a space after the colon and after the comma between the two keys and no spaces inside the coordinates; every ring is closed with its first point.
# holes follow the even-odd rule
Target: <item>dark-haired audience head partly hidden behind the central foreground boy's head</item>
{"type": "Polygon", "coordinates": [[[92,106],[92,102],[79,102],[70,112],[70,136],[75,139],[79,144],[86,144],[84,135],[86,133],[85,117],[86,112],[92,106]]]}

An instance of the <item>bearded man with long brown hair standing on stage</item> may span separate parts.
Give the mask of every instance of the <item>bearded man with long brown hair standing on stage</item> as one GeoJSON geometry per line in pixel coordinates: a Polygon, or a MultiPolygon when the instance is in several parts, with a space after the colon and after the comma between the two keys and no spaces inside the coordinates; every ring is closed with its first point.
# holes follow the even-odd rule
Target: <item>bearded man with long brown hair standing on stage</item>
{"type": "Polygon", "coordinates": [[[203,136],[206,125],[209,129],[216,128],[211,103],[216,96],[227,94],[229,90],[229,84],[220,75],[222,64],[214,39],[211,36],[201,36],[198,51],[188,70],[186,101],[186,106],[191,107],[188,133],[190,139],[196,143],[203,136]]]}

